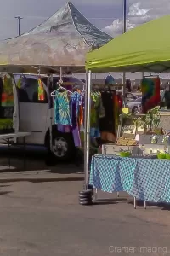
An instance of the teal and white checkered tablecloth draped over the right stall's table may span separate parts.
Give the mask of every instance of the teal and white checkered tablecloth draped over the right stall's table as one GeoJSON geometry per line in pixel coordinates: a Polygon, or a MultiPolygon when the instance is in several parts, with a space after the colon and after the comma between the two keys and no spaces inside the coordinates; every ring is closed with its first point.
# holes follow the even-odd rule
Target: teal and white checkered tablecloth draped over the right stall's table
{"type": "Polygon", "coordinates": [[[110,193],[127,191],[139,200],[170,202],[170,160],[97,154],[91,162],[90,184],[110,193]]]}

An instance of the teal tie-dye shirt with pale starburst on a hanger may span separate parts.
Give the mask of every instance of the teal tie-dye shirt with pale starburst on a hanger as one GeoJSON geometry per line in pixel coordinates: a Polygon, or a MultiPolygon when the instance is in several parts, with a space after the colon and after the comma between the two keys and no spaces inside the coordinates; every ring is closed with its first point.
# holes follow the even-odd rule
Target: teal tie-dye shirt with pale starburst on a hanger
{"type": "Polygon", "coordinates": [[[67,91],[55,92],[54,98],[55,124],[72,125],[70,101],[67,91]]]}

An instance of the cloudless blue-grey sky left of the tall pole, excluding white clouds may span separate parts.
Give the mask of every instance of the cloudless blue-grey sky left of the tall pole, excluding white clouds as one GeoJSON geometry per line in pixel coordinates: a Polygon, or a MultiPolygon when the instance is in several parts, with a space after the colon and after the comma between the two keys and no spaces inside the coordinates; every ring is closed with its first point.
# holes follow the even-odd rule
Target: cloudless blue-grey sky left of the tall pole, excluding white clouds
{"type": "MultiPolygon", "coordinates": [[[[21,32],[27,32],[53,15],[65,3],[65,0],[5,0],[0,9],[0,39],[17,34],[14,16],[21,15],[24,18],[20,23],[21,32]]],[[[122,16],[122,3],[117,3],[117,0],[105,0],[105,5],[100,0],[73,0],[71,3],[99,28],[111,25],[114,19],[122,16]]]]}

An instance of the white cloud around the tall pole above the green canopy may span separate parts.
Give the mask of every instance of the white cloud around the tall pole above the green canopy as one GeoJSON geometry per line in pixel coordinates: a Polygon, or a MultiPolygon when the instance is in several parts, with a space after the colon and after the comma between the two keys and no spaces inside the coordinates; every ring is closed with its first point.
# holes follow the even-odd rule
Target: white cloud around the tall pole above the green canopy
{"type": "MultiPolygon", "coordinates": [[[[154,20],[162,15],[167,15],[170,12],[169,0],[142,0],[137,2],[136,0],[129,0],[130,8],[127,15],[127,30],[139,26],[144,22],[154,20]]],[[[106,26],[104,29],[113,37],[121,34],[123,31],[122,19],[114,20],[110,26],[106,26]]]]}

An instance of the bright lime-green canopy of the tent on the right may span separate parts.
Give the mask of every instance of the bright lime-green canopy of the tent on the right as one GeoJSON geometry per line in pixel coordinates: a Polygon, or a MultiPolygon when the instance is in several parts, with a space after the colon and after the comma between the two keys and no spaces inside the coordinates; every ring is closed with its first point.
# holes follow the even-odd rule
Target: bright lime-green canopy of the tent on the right
{"type": "Polygon", "coordinates": [[[88,52],[92,72],[169,72],[170,15],[144,23],[88,52]]]}

